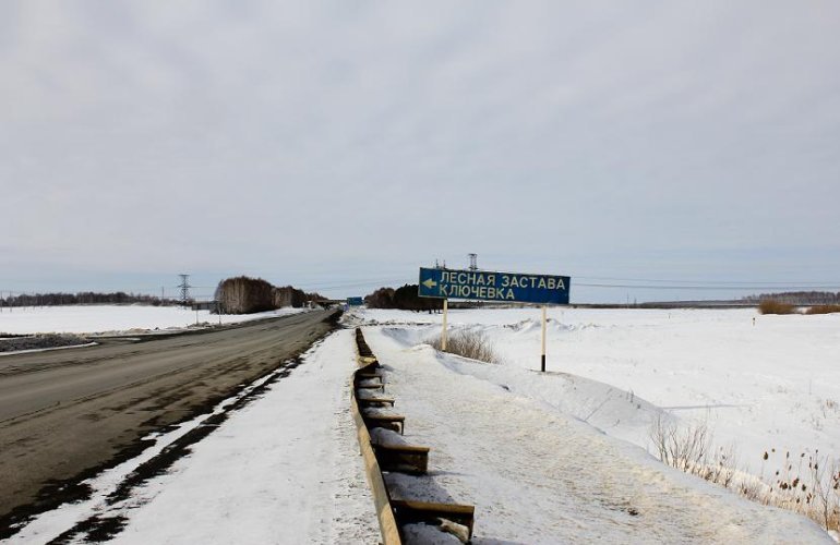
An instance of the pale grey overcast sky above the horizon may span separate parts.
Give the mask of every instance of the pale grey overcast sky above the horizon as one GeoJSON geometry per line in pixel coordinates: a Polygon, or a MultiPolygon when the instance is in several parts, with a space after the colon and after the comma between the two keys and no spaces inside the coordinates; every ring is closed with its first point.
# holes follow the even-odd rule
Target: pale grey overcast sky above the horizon
{"type": "Polygon", "coordinates": [[[840,290],[840,2],[411,5],[0,3],[0,290],[840,290]]]}

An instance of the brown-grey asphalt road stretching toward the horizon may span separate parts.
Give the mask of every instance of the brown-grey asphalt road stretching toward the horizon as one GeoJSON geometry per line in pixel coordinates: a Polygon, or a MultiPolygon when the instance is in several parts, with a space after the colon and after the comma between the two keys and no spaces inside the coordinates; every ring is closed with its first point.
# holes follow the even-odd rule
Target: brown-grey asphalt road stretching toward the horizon
{"type": "Polygon", "coordinates": [[[21,516],[84,492],[67,483],[142,449],[143,436],[305,351],[332,315],[1,356],[0,537],[21,516]]]}

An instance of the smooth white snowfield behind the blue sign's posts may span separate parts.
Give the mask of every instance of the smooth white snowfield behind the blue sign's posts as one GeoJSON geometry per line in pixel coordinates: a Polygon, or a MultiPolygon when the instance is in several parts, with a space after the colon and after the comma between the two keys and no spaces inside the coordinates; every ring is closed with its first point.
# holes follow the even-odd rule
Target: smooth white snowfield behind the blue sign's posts
{"type": "MultiPolygon", "coordinates": [[[[360,323],[397,327],[410,344],[441,332],[440,314],[356,314],[360,323]]],[[[705,423],[717,446],[734,446],[740,467],[766,477],[784,464],[785,452],[796,460],[817,450],[840,457],[840,314],[552,308],[547,367],[567,374],[554,380],[536,373],[539,308],[448,317],[451,331],[480,330],[500,355],[501,365],[464,373],[643,448],[650,446],[651,419],[664,411],[705,423]]]]}

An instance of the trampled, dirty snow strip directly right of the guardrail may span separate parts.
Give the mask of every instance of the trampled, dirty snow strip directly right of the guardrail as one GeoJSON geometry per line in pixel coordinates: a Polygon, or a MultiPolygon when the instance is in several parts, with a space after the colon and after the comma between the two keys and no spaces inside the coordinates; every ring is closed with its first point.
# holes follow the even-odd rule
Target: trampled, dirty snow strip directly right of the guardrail
{"type": "Polygon", "coordinates": [[[475,505],[476,544],[831,543],[803,517],[742,500],[562,409],[464,373],[461,359],[415,344],[417,331],[364,334],[406,416],[405,438],[432,448],[429,475],[388,476],[394,494],[475,505]]]}

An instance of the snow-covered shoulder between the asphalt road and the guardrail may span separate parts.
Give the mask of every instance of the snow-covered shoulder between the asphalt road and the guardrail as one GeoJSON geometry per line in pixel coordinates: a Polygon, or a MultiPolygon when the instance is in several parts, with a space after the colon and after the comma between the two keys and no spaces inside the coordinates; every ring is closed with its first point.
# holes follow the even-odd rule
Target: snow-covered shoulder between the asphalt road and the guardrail
{"type": "MultiPolygon", "coordinates": [[[[353,342],[351,331],[339,330],[313,347],[288,376],[128,499],[111,505],[107,495],[142,460],[95,477],[92,487],[101,493],[91,501],[45,513],[9,543],[48,541],[93,516],[123,518],[115,543],[374,543],[373,499],[348,410],[353,342]]],[[[182,436],[206,416],[175,433],[182,436]]],[[[141,458],[173,438],[161,437],[141,458]]]]}

